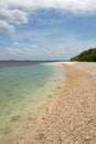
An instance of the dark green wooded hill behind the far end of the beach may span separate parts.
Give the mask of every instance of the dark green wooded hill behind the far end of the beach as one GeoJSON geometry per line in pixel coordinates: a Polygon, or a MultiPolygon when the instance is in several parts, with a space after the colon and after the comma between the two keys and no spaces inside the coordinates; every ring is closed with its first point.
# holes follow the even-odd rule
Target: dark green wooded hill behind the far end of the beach
{"type": "Polygon", "coordinates": [[[81,54],[72,58],[71,61],[96,62],[96,48],[82,52],[81,54]]]}

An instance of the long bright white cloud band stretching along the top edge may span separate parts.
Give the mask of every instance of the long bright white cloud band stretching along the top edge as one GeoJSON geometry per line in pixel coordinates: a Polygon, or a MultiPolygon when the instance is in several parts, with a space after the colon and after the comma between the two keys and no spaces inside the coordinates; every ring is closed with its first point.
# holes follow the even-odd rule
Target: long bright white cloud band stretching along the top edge
{"type": "Polygon", "coordinates": [[[96,11],[96,0],[3,0],[10,7],[24,8],[55,8],[73,12],[96,11]]]}

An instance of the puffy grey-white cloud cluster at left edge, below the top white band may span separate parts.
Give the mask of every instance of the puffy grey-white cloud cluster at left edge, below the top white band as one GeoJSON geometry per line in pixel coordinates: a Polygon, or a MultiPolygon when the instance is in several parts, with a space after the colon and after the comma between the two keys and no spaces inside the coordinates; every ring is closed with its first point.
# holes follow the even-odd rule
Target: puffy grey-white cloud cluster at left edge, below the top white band
{"type": "Polygon", "coordinates": [[[0,2],[0,31],[12,33],[14,24],[28,23],[26,12],[19,9],[10,9],[4,2],[0,2]]]}

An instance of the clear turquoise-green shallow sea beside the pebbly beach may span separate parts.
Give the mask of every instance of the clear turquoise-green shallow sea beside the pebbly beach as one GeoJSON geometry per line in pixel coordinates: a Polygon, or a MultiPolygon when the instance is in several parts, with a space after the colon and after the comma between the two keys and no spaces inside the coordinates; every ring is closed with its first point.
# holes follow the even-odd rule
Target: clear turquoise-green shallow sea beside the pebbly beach
{"type": "Polygon", "coordinates": [[[13,144],[61,84],[64,70],[41,62],[0,62],[0,144],[13,144]]]}

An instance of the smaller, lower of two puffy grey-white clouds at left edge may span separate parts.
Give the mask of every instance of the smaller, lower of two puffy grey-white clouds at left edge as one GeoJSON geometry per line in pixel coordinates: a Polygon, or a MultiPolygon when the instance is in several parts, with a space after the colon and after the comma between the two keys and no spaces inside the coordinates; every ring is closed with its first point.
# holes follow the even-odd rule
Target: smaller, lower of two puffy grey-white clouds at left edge
{"type": "Polygon", "coordinates": [[[9,24],[8,22],[0,20],[0,32],[9,32],[13,33],[14,32],[14,27],[9,24]]]}

